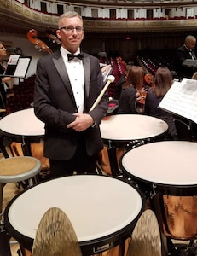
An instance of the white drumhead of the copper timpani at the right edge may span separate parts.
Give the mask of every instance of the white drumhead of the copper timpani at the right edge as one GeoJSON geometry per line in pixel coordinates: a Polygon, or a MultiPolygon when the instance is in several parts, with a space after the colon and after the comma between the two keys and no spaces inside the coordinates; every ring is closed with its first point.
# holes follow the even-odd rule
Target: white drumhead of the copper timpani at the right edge
{"type": "Polygon", "coordinates": [[[121,164],[126,172],[148,181],[169,185],[196,185],[197,143],[148,143],[127,152],[121,164]]]}

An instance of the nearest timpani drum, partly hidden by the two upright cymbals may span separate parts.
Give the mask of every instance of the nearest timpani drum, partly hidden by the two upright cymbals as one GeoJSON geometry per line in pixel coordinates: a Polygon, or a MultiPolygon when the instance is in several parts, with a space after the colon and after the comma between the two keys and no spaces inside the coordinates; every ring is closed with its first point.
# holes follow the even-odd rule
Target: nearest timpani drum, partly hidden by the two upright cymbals
{"type": "Polygon", "coordinates": [[[5,209],[6,229],[31,251],[38,224],[51,207],[66,212],[83,255],[92,255],[125,242],[144,211],[145,201],[140,190],[122,179],[61,177],[15,196],[5,209]]]}

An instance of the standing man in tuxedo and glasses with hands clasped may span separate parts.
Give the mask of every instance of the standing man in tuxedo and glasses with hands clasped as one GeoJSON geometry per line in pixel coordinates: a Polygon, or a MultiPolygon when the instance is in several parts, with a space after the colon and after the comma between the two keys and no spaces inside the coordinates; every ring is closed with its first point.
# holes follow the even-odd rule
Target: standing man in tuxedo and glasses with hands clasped
{"type": "Polygon", "coordinates": [[[99,125],[108,108],[105,94],[90,111],[104,84],[98,59],[80,51],[81,16],[67,12],[58,26],[61,48],[38,60],[34,91],[35,114],[45,123],[44,155],[51,178],[96,173],[103,148],[99,125]]]}

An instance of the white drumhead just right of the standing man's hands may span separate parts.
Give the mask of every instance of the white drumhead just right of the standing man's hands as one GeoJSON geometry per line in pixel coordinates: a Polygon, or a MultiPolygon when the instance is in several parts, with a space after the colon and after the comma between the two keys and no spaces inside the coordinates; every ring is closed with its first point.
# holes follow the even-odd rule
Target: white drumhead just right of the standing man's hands
{"type": "Polygon", "coordinates": [[[167,131],[161,119],[142,114],[116,114],[101,121],[101,137],[116,141],[152,138],[167,131]]]}

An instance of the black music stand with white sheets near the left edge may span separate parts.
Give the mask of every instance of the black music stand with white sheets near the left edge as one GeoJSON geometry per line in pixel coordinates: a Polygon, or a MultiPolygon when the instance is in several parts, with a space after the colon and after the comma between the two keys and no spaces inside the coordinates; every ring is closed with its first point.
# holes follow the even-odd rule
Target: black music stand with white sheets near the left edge
{"type": "Polygon", "coordinates": [[[10,55],[7,68],[0,76],[25,78],[31,60],[32,57],[29,56],[10,55]]]}

